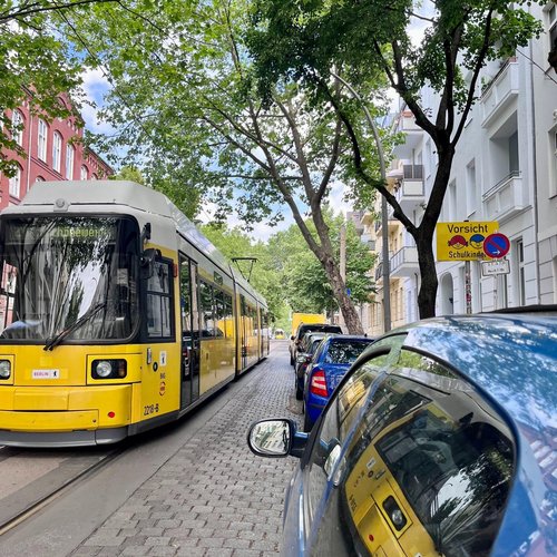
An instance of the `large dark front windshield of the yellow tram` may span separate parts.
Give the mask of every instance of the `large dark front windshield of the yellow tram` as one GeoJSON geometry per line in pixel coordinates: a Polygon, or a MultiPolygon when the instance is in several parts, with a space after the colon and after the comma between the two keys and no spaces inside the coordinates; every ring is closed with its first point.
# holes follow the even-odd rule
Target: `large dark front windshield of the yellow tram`
{"type": "Polygon", "coordinates": [[[129,218],[7,218],[0,342],[127,339],[138,311],[138,227],[129,218]]]}

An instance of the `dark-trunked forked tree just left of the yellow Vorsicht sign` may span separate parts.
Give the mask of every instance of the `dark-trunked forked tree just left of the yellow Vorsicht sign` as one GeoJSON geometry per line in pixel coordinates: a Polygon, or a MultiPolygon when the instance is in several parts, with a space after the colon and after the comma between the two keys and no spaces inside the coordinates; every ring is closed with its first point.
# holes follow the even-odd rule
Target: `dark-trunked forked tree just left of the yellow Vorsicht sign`
{"type": "MultiPolygon", "coordinates": [[[[481,69],[489,60],[515,56],[517,47],[538,36],[541,25],[519,0],[257,0],[248,33],[262,95],[295,82],[323,106],[333,107],[350,137],[352,164],[360,179],[387,198],[416,241],[421,285],[421,317],[434,315],[438,278],[433,233],[441,213],[452,160],[470,110],[478,98],[481,69]],[[421,12],[419,11],[421,10],[421,12]],[[411,23],[424,31],[411,39],[411,23]],[[412,111],[437,152],[438,165],[421,221],[407,215],[387,184],[369,172],[365,139],[341,76],[365,98],[381,72],[412,111]],[[437,91],[436,106],[421,91],[437,91]]],[[[372,104],[373,99],[368,98],[372,104]]]]}

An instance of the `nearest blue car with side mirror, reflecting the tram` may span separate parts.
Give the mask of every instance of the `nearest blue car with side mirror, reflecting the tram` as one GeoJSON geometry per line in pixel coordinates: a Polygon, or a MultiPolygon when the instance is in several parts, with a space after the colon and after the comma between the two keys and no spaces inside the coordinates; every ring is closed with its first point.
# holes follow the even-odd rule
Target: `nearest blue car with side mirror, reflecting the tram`
{"type": "Polygon", "coordinates": [[[555,555],[557,307],[432,319],[370,345],[311,434],[254,423],[300,457],[284,555],[555,555]]]}

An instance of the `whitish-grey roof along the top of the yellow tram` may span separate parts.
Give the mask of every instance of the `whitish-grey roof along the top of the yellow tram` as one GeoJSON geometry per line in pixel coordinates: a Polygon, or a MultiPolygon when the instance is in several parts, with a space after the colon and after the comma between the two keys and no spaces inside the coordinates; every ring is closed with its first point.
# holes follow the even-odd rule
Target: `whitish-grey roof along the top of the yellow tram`
{"type": "MultiPolygon", "coordinates": [[[[147,186],[129,180],[59,180],[36,182],[23,197],[20,205],[10,206],[3,213],[17,214],[18,207],[51,205],[58,202],[70,205],[124,205],[145,213],[172,218],[177,232],[195,245],[204,255],[213,260],[222,268],[233,274],[234,280],[257,300],[265,303],[264,297],[234,270],[224,255],[205,237],[166,195],[147,186]]],[[[63,204],[62,204],[63,205],[63,204]]],[[[21,208],[19,208],[19,212],[21,208]]]]}

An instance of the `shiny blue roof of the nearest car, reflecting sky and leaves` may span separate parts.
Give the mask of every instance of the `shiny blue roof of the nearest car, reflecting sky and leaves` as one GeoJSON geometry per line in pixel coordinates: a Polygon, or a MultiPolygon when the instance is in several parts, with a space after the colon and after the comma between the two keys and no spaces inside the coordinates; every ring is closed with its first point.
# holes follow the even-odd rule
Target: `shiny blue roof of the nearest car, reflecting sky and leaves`
{"type": "Polygon", "coordinates": [[[433,317],[383,335],[449,362],[514,419],[557,427],[557,312],[433,317]]]}

